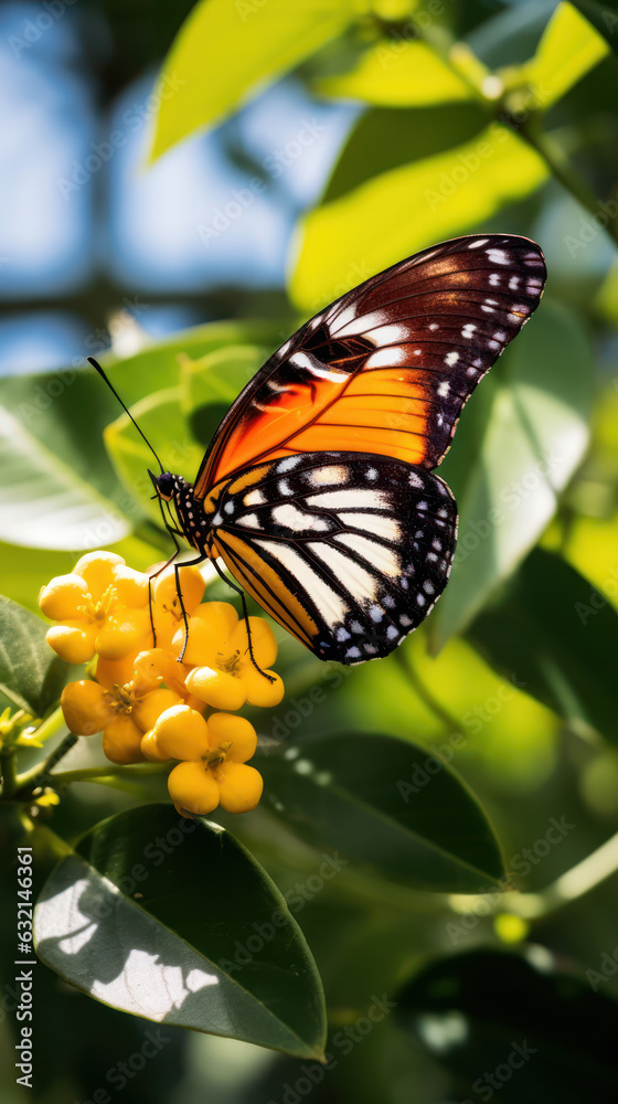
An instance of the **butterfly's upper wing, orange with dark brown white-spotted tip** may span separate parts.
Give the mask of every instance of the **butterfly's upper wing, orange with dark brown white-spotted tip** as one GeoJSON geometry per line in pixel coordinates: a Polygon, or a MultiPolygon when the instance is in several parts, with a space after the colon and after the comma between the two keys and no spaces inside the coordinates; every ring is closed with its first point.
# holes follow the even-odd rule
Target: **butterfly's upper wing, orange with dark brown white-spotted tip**
{"type": "Polygon", "coordinates": [[[274,353],[221,423],[195,481],[332,449],[427,470],[464,403],[539,305],[543,254],[487,234],[425,250],[365,280],[274,353]]]}

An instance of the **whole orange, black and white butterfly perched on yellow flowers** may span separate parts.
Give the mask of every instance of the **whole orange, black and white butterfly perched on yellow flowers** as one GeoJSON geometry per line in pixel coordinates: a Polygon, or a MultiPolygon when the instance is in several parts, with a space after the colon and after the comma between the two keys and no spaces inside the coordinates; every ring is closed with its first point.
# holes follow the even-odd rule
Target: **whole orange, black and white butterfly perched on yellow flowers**
{"type": "Polygon", "coordinates": [[[320,659],[387,656],[449,576],[457,506],[434,468],[545,277],[534,242],[477,235],[330,304],[238,395],[194,485],[151,476],[177,531],[320,659]]]}

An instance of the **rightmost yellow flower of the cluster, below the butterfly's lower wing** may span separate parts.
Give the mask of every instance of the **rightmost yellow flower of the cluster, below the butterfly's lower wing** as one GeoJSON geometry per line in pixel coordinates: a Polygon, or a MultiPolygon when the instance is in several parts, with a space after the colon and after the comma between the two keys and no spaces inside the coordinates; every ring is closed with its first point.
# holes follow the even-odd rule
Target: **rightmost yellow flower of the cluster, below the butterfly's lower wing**
{"type": "MultiPolygon", "coordinates": [[[[278,705],[284,697],[284,683],[268,670],[277,658],[277,644],[263,617],[249,617],[253,654],[251,658],[247,627],[238,620],[228,602],[207,602],[198,606],[189,624],[189,639],[183,661],[193,667],[185,679],[187,689],[200,701],[216,709],[241,709],[252,705],[278,705]]],[[[181,647],[184,629],[173,644],[181,647]]]]}

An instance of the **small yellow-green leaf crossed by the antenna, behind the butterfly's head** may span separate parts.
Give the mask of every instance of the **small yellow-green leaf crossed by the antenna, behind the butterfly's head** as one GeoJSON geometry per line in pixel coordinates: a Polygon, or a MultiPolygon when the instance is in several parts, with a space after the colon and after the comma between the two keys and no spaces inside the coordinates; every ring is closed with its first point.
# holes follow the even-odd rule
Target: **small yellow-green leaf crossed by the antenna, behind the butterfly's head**
{"type": "MultiPolygon", "coordinates": [[[[166,391],[158,391],[153,395],[140,399],[132,405],[131,414],[153,445],[163,469],[192,481],[204,450],[193,439],[188,421],[181,412],[180,402],[181,389],[168,388],[166,391]]],[[[152,470],[157,465],[128,415],[121,414],[111,422],[105,429],[104,436],[109,458],[119,479],[139,503],[139,508],[160,522],[159,503],[152,501],[152,482],[148,475],[148,470],[152,470]]]]}

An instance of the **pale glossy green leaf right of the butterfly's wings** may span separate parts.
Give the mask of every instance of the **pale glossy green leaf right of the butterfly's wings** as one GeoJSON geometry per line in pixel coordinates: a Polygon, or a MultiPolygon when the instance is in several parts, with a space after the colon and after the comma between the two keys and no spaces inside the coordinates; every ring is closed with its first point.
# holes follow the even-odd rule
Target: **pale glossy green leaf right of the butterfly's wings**
{"type": "MultiPolygon", "coordinates": [[[[504,370],[493,373],[493,401],[465,484],[457,437],[441,469],[460,523],[450,580],[431,618],[436,646],[466,628],[536,543],[588,444],[593,355],[572,312],[544,302],[505,354],[504,370]]],[[[464,450],[468,413],[457,434],[464,450]]]]}

